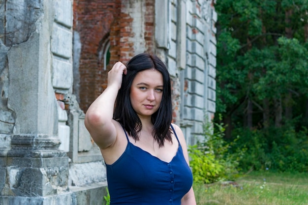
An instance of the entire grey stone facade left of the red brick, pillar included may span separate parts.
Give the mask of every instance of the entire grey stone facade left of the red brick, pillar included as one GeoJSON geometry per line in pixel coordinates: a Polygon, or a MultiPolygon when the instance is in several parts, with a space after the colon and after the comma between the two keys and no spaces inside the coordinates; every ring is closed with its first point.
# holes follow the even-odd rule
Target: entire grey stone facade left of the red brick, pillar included
{"type": "Polygon", "coordinates": [[[102,204],[73,86],[73,1],[0,0],[0,205],[102,204]]]}

